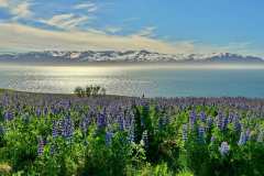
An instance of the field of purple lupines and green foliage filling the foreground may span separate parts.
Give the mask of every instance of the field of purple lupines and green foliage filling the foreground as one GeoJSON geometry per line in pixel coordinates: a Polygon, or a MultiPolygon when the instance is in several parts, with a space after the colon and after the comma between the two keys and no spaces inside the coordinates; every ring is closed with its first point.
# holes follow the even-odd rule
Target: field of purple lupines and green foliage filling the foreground
{"type": "Polygon", "coordinates": [[[0,92],[0,175],[264,175],[264,100],[0,92]]]}

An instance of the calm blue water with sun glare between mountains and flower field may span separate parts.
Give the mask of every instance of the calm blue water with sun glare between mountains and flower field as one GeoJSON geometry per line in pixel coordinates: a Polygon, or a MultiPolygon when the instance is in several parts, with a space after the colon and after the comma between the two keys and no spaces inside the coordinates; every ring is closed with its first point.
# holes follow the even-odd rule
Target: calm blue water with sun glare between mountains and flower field
{"type": "Polygon", "coordinates": [[[100,85],[108,94],[146,97],[244,96],[264,98],[264,67],[14,66],[0,63],[0,87],[73,92],[100,85]]]}

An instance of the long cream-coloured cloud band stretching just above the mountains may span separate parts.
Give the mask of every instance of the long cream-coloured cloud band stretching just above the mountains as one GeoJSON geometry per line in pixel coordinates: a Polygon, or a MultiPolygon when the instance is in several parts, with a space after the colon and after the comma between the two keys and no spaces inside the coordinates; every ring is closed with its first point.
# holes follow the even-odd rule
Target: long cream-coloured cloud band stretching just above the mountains
{"type": "MultiPolygon", "coordinates": [[[[0,48],[7,51],[87,51],[87,50],[147,50],[166,54],[219,53],[257,54],[249,51],[250,43],[209,45],[194,41],[168,43],[162,40],[132,34],[110,35],[103,31],[50,31],[18,23],[0,24],[0,48]]],[[[258,56],[263,53],[258,51],[258,56]]]]}

